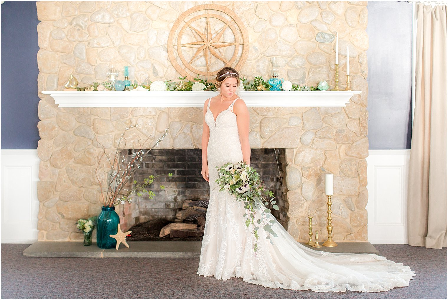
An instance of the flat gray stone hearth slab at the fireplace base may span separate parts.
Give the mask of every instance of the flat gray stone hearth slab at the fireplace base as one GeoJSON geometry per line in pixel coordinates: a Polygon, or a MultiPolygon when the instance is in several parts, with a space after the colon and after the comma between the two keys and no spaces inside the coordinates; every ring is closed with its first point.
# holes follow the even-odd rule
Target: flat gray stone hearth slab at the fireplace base
{"type": "MultiPolygon", "coordinates": [[[[100,249],[96,243],[85,247],[82,242],[36,242],[23,251],[27,257],[199,257],[202,242],[128,242],[118,250],[100,249]]],[[[302,243],[303,245],[304,243],[302,243]]],[[[307,247],[310,247],[304,244],[307,247]]],[[[369,242],[341,242],[337,247],[312,248],[318,251],[375,253],[369,242]]]]}

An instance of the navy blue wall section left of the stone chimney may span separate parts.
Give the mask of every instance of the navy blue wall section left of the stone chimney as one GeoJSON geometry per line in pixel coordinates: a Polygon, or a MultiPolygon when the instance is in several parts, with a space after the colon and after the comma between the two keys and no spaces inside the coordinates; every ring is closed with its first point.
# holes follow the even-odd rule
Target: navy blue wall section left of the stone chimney
{"type": "Polygon", "coordinates": [[[35,1],[1,4],[1,149],[37,149],[35,1]]]}

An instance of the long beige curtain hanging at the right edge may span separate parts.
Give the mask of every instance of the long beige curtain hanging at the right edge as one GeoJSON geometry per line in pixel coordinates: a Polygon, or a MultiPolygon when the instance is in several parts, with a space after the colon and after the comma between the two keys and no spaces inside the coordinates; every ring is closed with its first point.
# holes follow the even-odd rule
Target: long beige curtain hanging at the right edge
{"type": "Polygon", "coordinates": [[[408,189],[411,246],[447,247],[447,7],[417,4],[408,189]]]}

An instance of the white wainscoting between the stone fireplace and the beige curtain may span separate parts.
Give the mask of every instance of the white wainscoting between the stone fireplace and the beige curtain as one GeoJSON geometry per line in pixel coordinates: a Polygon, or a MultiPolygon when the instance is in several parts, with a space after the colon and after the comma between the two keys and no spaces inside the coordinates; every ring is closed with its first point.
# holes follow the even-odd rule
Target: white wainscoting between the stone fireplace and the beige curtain
{"type": "Polygon", "coordinates": [[[407,244],[410,150],[369,150],[367,231],[372,244],[407,244]]]}

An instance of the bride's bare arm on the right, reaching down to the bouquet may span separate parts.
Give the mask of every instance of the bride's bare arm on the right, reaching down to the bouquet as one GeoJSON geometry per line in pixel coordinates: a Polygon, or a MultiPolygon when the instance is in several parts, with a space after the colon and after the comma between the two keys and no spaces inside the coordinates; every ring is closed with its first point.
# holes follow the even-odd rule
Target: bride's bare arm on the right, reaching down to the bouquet
{"type": "Polygon", "coordinates": [[[250,164],[250,145],[249,145],[249,110],[243,99],[238,99],[233,105],[233,112],[237,115],[238,134],[240,135],[241,151],[243,152],[243,161],[250,164]]]}

